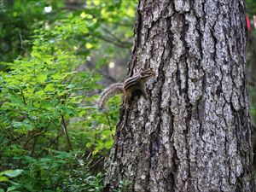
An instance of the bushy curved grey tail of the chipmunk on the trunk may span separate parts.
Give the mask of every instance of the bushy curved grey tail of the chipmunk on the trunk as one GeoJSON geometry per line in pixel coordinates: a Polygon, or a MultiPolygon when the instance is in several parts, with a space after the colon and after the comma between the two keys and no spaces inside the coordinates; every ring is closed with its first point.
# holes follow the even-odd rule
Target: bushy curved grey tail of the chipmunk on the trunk
{"type": "Polygon", "coordinates": [[[118,93],[123,93],[123,84],[111,84],[106,90],[103,90],[101,98],[98,102],[98,108],[102,110],[104,103],[108,101],[109,97],[116,95],[118,93]]]}

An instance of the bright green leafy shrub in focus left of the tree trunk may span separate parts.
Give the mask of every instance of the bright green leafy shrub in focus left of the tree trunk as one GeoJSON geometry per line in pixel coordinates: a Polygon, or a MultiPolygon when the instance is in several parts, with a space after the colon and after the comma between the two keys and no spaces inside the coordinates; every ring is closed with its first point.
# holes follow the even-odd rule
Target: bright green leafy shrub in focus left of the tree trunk
{"type": "MultiPolygon", "coordinates": [[[[76,156],[81,149],[95,159],[107,154],[114,131],[108,127],[117,118],[107,123],[96,110],[97,97],[89,96],[100,88],[96,82],[101,76],[77,70],[81,61],[66,41],[84,31],[84,20],[73,15],[68,20],[59,20],[61,26],[53,30],[38,31],[29,57],[2,63],[9,68],[0,79],[2,190],[102,189],[101,174],[91,175],[76,156]],[[5,171],[9,169],[13,171],[5,171]],[[19,170],[19,176],[8,177],[8,172],[19,170]]],[[[85,52],[89,55],[90,50],[85,52]]]]}

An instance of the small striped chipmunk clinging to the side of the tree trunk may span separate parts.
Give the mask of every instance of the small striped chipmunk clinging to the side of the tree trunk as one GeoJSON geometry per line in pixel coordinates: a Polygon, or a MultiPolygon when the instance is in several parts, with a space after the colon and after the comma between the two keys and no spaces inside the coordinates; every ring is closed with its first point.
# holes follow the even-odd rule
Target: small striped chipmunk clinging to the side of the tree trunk
{"type": "Polygon", "coordinates": [[[129,108],[128,102],[132,93],[136,90],[141,90],[143,96],[148,98],[145,84],[148,79],[151,79],[154,76],[155,73],[151,68],[140,69],[138,73],[135,73],[131,78],[125,79],[124,83],[110,84],[110,86],[102,92],[99,100],[99,109],[102,110],[104,103],[109,97],[118,93],[123,93],[124,95],[125,109],[129,108]]]}

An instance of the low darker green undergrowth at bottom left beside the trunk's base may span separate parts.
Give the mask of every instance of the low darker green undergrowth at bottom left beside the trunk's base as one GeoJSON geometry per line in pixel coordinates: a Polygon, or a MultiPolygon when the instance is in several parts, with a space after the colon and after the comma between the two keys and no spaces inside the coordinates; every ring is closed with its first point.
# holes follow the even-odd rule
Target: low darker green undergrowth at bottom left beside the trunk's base
{"type": "Polygon", "coordinates": [[[77,152],[51,151],[38,160],[27,155],[15,156],[22,170],[0,173],[0,186],[7,191],[101,191],[102,174],[92,176],[90,162],[77,159],[77,152]],[[7,177],[6,177],[7,176],[7,177]],[[11,179],[17,177],[16,179],[11,179]]]}

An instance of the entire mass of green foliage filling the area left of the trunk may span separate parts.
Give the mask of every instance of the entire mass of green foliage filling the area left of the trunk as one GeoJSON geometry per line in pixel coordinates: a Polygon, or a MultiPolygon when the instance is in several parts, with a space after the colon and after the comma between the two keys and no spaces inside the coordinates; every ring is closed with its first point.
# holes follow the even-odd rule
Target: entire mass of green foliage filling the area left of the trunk
{"type": "Polygon", "coordinates": [[[0,192],[102,191],[120,96],[97,111],[97,72],[114,46],[131,45],[132,26],[125,25],[136,2],[88,1],[73,13],[49,0],[3,2],[1,44],[9,48],[0,54],[0,192]],[[106,29],[118,33],[115,45],[106,29]],[[90,57],[97,58],[93,67],[90,57]]]}

